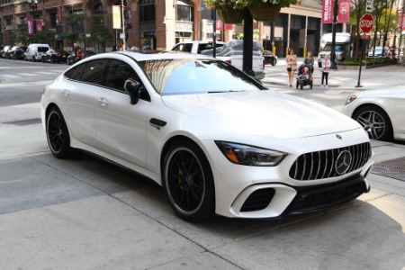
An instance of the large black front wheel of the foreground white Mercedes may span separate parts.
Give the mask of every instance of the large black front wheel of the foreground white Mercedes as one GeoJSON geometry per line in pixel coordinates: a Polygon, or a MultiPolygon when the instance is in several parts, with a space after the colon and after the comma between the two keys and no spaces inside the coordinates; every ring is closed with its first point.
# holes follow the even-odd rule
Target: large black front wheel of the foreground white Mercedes
{"type": "Polygon", "coordinates": [[[208,220],[215,213],[211,166],[201,148],[189,141],[175,142],[165,157],[163,185],[170,206],[183,220],[208,220]]]}

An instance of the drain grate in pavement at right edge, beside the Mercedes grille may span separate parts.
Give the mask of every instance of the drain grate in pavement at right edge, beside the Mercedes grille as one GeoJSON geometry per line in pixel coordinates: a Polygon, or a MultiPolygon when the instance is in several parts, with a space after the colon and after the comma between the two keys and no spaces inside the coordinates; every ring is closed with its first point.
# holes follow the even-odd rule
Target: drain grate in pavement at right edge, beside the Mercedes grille
{"type": "Polygon", "coordinates": [[[372,174],[405,181],[405,157],[394,158],[374,164],[372,174]]]}

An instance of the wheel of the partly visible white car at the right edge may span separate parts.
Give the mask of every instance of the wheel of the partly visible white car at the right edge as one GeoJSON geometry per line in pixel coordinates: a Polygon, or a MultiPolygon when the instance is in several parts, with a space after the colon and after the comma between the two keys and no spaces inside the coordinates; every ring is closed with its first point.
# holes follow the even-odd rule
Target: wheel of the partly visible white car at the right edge
{"type": "Polygon", "coordinates": [[[392,122],[380,107],[374,105],[361,107],[353,114],[353,119],[363,126],[370,139],[392,141],[392,122]]]}

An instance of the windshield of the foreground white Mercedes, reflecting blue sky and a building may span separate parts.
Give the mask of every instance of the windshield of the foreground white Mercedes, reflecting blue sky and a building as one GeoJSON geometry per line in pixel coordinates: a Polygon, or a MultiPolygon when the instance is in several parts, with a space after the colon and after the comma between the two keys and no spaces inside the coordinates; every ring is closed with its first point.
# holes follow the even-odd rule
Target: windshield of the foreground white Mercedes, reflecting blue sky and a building
{"type": "Polygon", "coordinates": [[[218,60],[157,59],[139,65],[162,95],[259,90],[252,78],[218,60]]]}

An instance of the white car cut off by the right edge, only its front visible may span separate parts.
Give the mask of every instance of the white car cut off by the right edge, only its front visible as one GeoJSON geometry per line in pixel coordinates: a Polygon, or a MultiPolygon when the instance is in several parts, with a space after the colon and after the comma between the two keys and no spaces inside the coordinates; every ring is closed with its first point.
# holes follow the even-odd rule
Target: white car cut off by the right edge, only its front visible
{"type": "Polygon", "coordinates": [[[342,112],[358,121],[371,139],[405,140],[405,88],[358,92],[342,112]]]}

